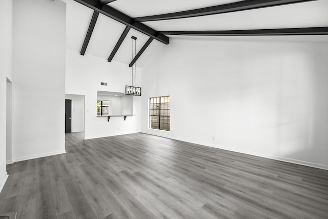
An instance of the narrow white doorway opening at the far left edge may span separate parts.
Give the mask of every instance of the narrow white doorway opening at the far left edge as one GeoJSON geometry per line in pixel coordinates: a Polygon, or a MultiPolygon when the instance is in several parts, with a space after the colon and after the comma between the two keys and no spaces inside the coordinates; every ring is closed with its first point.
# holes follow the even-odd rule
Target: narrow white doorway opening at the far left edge
{"type": "Polygon", "coordinates": [[[12,83],[7,77],[6,90],[6,163],[12,164],[12,83]]]}

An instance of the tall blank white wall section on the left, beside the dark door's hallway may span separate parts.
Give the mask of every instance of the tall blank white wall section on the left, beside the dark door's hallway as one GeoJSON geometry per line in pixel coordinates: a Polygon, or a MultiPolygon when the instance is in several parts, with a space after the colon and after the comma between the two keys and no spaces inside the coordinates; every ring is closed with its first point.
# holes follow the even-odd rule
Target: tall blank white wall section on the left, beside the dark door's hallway
{"type": "Polygon", "coordinates": [[[13,1],[13,161],[65,152],[66,4],[13,1]]]}

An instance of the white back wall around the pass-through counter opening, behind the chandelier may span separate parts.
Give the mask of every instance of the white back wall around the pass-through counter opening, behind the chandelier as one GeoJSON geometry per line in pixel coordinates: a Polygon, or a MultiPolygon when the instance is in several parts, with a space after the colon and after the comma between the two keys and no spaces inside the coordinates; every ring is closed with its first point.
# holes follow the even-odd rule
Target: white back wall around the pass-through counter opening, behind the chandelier
{"type": "MultiPolygon", "coordinates": [[[[141,71],[137,68],[137,82],[140,85],[141,71]]],[[[97,91],[125,92],[125,86],[131,84],[129,66],[107,62],[107,59],[91,55],[80,55],[66,50],[66,86],[65,92],[85,95],[85,139],[119,134],[140,132],[140,97],[133,97],[135,116],[96,117],[97,91]],[[107,86],[101,86],[106,82],[107,86]]]]}

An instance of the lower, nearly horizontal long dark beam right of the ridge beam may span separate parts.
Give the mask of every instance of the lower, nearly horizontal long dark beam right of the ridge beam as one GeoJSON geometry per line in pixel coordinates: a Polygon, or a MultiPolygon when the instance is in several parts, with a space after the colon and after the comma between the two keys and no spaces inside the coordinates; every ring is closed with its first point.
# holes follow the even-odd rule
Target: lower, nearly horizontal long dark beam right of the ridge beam
{"type": "Polygon", "coordinates": [[[259,29],[259,30],[159,31],[159,33],[167,34],[167,35],[189,35],[189,36],[328,35],[328,27],[259,29]]]}

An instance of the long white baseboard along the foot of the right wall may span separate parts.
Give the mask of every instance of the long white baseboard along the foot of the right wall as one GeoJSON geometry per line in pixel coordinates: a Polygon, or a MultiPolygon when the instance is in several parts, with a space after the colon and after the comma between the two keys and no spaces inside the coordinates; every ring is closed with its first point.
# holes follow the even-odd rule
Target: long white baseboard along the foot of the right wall
{"type": "Polygon", "coordinates": [[[249,155],[254,155],[254,156],[259,156],[259,157],[265,157],[265,158],[269,158],[269,159],[272,159],[272,160],[283,161],[283,162],[288,162],[288,163],[292,163],[292,164],[298,164],[298,165],[303,165],[303,166],[315,167],[315,168],[319,168],[319,169],[323,169],[323,170],[328,170],[328,165],[324,165],[324,164],[317,164],[317,163],[312,163],[312,162],[307,162],[307,161],[300,161],[300,160],[295,160],[295,159],[288,158],[288,157],[257,153],[257,152],[252,152],[252,151],[248,151],[248,150],[241,150],[241,149],[236,149],[236,148],[224,147],[224,146],[220,146],[220,145],[204,144],[204,143],[197,142],[197,141],[185,140],[185,139],[179,138],[179,137],[160,135],[160,134],[157,135],[157,134],[154,134],[154,133],[147,133],[147,132],[142,132],[142,133],[156,135],[156,136],[160,136],[160,137],[167,137],[167,138],[171,138],[171,139],[177,140],[177,141],[188,142],[188,143],[203,145],[203,146],[212,147],[212,148],[219,148],[219,149],[234,151],[234,152],[243,153],[243,154],[249,154],[249,155]]]}

